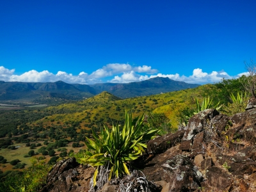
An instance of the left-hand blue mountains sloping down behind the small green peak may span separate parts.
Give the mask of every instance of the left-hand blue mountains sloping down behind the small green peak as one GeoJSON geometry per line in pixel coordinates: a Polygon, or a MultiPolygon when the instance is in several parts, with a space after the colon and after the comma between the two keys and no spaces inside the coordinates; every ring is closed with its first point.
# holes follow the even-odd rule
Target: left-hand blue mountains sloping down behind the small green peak
{"type": "Polygon", "coordinates": [[[83,92],[72,84],[0,82],[0,100],[22,100],[24,102],[47,102],[54,99],[79,100],[92,97],[93,93],[83,92]]]}

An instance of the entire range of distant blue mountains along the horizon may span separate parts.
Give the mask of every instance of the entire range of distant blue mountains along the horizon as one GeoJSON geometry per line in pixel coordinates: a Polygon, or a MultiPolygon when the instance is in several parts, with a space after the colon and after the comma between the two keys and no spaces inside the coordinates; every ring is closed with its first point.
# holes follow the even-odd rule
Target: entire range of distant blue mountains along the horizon
{"type": "Polygon", "coordinates": [[[195,88],[200,84],[174,81],[168,77],[155,77],[132,83],[68,84],[63,81],[54,83],[24,83],[0,81],[0,100],[28,100],[61,98],[79,100],[92,97],[101,92],[109,92],[116,97],[127,98],[195,88]]]}

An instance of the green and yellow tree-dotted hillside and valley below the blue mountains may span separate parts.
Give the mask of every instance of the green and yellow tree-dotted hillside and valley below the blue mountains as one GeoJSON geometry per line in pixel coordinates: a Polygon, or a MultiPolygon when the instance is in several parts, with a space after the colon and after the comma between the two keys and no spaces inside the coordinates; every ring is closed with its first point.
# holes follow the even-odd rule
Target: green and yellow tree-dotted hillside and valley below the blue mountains
{"type": "MultiPolygon", "coordinates": [[[[197,110],[196,100],[201,103],[207,97],[212,100],[209,107],[218,104],[221,113],[230,115],[243,111],[244,101],[248,99],[248,95],[244,97],[243,78],[223,79],[221,83],[144,97],[121,99],[102,92],[58,106],[1,111],[1,170],[28,168],[31,157],[54,164],[57,159],[85,148],[84,141],[86,137],[92,138],[92,130],[98,132],[102,125],[124,124],[125,111],[131,111],[134,118],[145,114],[147,122],[144,129],[160,129],[158,134],[175,132],[179,126],[186,125],[188,118],[197,110]],[[237,93],[243,93],[243,103],[237,104],[230,97],[237,93]]],[[[19,172],[5,172],[0,174],[0,178],[6,180],[10,173],[19,172]]]]}

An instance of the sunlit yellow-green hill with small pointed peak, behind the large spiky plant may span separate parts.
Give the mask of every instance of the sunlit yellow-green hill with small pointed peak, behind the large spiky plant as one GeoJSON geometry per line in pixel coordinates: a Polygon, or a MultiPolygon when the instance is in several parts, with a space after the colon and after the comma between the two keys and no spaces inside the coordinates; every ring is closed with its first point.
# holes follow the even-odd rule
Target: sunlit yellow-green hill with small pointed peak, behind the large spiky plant
{"type": "Polygon", "coordinates": [[[172,127],[177,128],[180,111],[194,104],[193,98],[198,97],[202,87],[205,86],[129,99],[120,99],[111,93],[102,92],[85,100],[46,108],[54,115],[36,123],[46,126],[57,125],[56,122],[67,125],[68,122],[79,122],[82,129],[90,129],[103,123],[122,122],[125,110],[132,110],[134,116],[150,112],[164,113],[171,120],[172,127]]]}

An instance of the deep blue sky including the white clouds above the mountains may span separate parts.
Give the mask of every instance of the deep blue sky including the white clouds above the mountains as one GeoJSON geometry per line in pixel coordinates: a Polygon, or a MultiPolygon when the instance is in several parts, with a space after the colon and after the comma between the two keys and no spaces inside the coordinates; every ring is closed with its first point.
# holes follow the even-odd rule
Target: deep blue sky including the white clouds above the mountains
{"type": "Polygon", "coordinates": [[[3,1],[0,80],[187,83],[256,60],[256,1],[3,1]]]}

